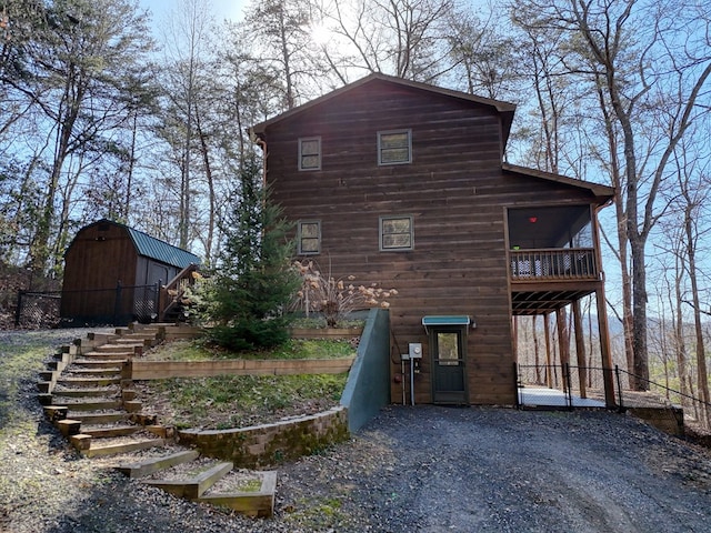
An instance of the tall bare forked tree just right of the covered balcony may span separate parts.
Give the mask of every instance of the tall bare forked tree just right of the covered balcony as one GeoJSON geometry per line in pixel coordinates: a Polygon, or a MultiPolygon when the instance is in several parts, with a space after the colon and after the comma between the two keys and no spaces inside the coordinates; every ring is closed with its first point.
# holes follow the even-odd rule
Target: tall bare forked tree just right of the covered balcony
{"type": "MultiPolygon", "coordinates": [[[[660,192],[668,187],[670,159],[689,128],[708,112],[699,104],[708,98],[711,54],[698,36],[708,40],[709,20],[683,3],[527,0],[517,4],[523,8],[521,26],[564,32],[565,48],[559,53],[568,76],[597,90],[597,123],[607,138],[607,150],[600,149],[598,155],[618,188],[619,249],[629,247],[630,252],[631,291],[624,303],[631,313],[625,310],[624,316],[631,314],[631,321],[624,323],[631,328],[628,348],[637,389],[647,389],[649,380],[645,247],[667,209],[660,192]]],[[[621,263],[624,272],[627,268],[621,263]]]]}

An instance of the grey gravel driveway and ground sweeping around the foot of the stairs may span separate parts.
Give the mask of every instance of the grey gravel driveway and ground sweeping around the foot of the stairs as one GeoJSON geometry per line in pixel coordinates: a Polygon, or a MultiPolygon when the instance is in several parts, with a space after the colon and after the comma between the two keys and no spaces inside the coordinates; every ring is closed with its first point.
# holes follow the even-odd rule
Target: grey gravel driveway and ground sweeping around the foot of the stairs
{"type": "Polygon", "coordinates": [[[709,451],[605,412],[391,406],[350,442],[279,466],[273,519],[184,502],[113,473],[114,460],[78,455],[43,420],[37,366],[17,369],[3,349],[83,334],[0,332],[0,532],[705,532],[711,524],[709,451]]]}

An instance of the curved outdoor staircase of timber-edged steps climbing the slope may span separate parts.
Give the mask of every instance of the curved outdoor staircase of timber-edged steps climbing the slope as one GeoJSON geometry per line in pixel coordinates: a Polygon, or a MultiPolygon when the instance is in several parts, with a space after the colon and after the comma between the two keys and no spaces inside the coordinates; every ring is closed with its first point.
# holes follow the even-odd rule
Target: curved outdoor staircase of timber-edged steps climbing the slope
{"type": "Polygon", "coordinates": [[[178,497],[271,516],[276,472],[246,472],[232,463],[176,451],[173,430],[142,413],[128,362],[171,334],[170,324],[132,325],[63,346],[40,372],[38,399],[49,420],[87,457],[119,457],[117,470],[178,497]],[[163,450],[161,452],[161,450],[163,450]],[[151,455],[137,457],[137,452],[151,455]],[[131,455],[134,454],[134,455],[131,455]]]}

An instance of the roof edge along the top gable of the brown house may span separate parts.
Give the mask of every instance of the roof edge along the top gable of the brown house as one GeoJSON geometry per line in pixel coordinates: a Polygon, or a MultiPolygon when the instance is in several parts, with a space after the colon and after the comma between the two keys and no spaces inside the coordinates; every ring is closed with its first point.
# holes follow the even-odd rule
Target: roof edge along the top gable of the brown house
{"type": "Polygon", "coordinates": [[[251,132],[253,132],[258,137],[262,137],[267,131],[267,128],[269,128],[270,125],[277,122],[289,119],[291,117],[296,117],[316,105],[319,105],[323,102],[328,102],[329,100],[338,98],[339,95],[348,91],[352,91],[353,89],[357,89],[359,87],[365,86],[368,83],[373,83],[373,82],[394,83],[401,87],[409,87],[420,91],[428,91],[433,94],[441,94],[450,98],[455,98],[458,100],[464,100],[479,105],[491,107],[495,109],[501,115],[501,121],[503,124],[504,144],[509,139],[509,132],[511,131],[511,123],[513,122],[513,112],[515,111],[515,104],[509,103],[509,102],[502,102],[499,100],[491,100],[489,98],[477,97],[477,95],[469,94],[461,91],[453,91],[451,89],[444,89],[441,87],[430,86],[428,83],[421,83],[419,81],[411,81],[402,78],[395,78],[393,76],[387,76],[380,72],[369,74],[364,78],[361,78],[360,80],[349,83],[348,86],[343,86],[340,89],[337,89],[332,92],[329,92],[328,94],[317,98],[316,100],[311,100],[310,102],[307,102],[302,105],[293,108],[284,113],[278,114],[277,117],[266,120],[264,122],[260,122],[259,124],[256,124],[251,128],[251,132]]]}

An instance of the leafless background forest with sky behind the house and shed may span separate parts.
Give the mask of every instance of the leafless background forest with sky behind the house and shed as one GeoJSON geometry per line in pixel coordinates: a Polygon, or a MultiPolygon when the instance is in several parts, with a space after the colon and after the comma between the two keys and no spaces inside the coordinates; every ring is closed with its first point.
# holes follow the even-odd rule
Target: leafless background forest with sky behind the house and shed
{"type": "MultiPolygon", "coordinates": [[[[653,378],[647,314],[662,306],[648,284],[665,275],[682,305],[664,312],[693,353],[664,360],[705,363],[708,332],[682,328],[711,298],[704,233],[690,235],[682,207],[711,161],[703,2],[252,0],[221,24],[209,0],[171,6],[177,31],[151,54],[132,0],[2,2],[0,259],[61,275],[73,230],[108,217],[213,264],[231,177],[252,164],[249,125],[383,72],[514,102],[508,161],[614,185],[601,222],[631,384],[653,378]],[[662,242],[678,270],[658,266],[662,242]]],[[[693,212],[703,227],[705,205],[693,212]]]]}

